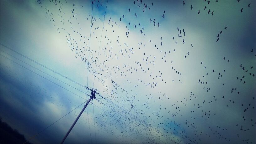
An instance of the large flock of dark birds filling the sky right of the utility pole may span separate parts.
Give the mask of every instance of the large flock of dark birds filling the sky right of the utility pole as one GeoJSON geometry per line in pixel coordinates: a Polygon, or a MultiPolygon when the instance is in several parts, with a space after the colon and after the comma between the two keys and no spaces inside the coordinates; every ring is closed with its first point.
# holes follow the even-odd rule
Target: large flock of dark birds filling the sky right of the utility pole
{"type": "MultiPolygon", "coordinates": [[[[207,7],[211,4],[210,0],[204,1],[207,7]]],[[[242,112],[243,116],[240,119],[243,122],[234,125],[239,130],[235,134],[237,140],[240,140],[239,143],[255,142],[252,139],[243,139],[246,132],[255,132],[253,130],[256,124],[255,114],[250,117],[250,114],[255,112],[255,96],[248,96],[250,103],[248,101],[241,103],[242,101],[238,101],[237,97],[242,93],[242,86],[237,84],[237,86],[226,87],[228,84],[222,79],[227,78],[230,66],[225,69],[219,69],[216,66],[214,69],[211,65],[204,64],[203,61],[198,63],[204,74],[194,84],[201,87],[201,90],[205,92],[203,95],[189,91],[185,96],[174,101],[172,96],[167,94],[168,90],[157,93],[150,92],[150,90],[157,90],[159,85],[182,87],[186,81],[183,79],[183,71],[179,67],[175,67],[179,62],[174,56],[178,55],[187,60],[191,55],[190,51],[196,47],[186,41],[185,38],[191,37],[191,34],[187,34],[184,28],[173,28],[173,31],[177,29],[178,32],[176,31],[176,34],[170,38],[157,37],[148,33],[147,29],[151,27],[161,28],[161,23],[168,15],[167,11],[163,10],[159,17],[148,18],[147,22],[137,23],[146,13],[150,15],[155,12],[157,8],[154,3],[133,0],[127,5],[125,14],[111,16],[107,10],[106,15],[99,17],[93,13],[88,13],[85,16],[83,12],[86,7],[71,1],[37,0],[37,3],[45,11],[45,17],[53,23],[56,30],[66,34],[67,45],[76,54],[76,58],[85,63],[89,76],[104,86],[104,90],[101,90],[103,95],[107,95],[106,97],[115,103],[111,104],[104,99],[99,100],[100,108],[103,111],[95,118],[97,127],[102,131],[115,135],[116,139],[124,143],[135,142],[134,137],[140,137],[141,143],[202,143],[207,141],[207,138],[210,140],[211,137],[219,139],[223,143],[233,143],[236,141],[226,134],[231,133],[231,130],[225,125],[208,122],[217,119],[219,114],[209,107],[225,105],[225,108],[230,109],[239,107],[239,111],[242,112]],[[102,26],[103,21],[104,27],[102,26]],[[85,23],[87,23],[86,26],[85,23]],[[84,33],[83,31],[88,28],[91,28],[91,32],[84,33]],[[140,36],[138,43],[128,43],[129,39],[134,40],[130,34],[140,36]],[[148,39],[148,36],[153,38],[148,39]],[[97,42],[94,46],[98,46],[99,49],[90,46],[91,40],[97,42]],[[173,44],[176,50],[175,48],[166,49],[170,44],[173,44]],[[184,45],[190,48],[185,53],[184,50],[178,49],[184,45]],[[99,55],[97,55],[98,51],[99,55]],[[126,63],[127,61],[128,63],[126,63]],[[166,73],[164,68],[160,67],[159,69],[159,65],[167,66],[171,71],[166,73]],[[143,77],[138,75],[143,75],[143,77]],[[168,77],[169,75],[172,77],[168,77]],[[213,95],[211,91],[216,90],[216,85],[228,88],[229,94],[213,95]],[[148,89],[149,93],[141,95],[138,92],[141,88],[148,89]],[[207,97],[205,97],[206,95],[207,97]],[[165,101],[168,102],[168,105],[162,104],[165,101]],[[185,112],[190,115],[184,116],[185,112]],[[200,117],[195,117],[195,115],[200,115],[200,117]],[[184,119],[184,122],[179,118],[184,119]],[[98,122],[97,119],[101,122],[98,122]],[[198,121],[203,121],[207,131],[202,129],[198,121]],[[115,126],[121,133],[115,133],[115,126]],[[241,137],[241,135],[243,136],[241,137]]],[[[87,4],[89,5],[88,2],[87,4]]],[[[106,8],[105,1],[93,0],[90,4],[93,7],[93,12],[106,8]]],[[[185,6],[185,1],[182,4],[185,6]]],[[[250,7],[250,4],[247,6],[250,7]]],[[[205,6],[204,10],[207,7],[205,6]]],[[[193,10],[192,5],[190,8],[193,10]]],[[[107,9],[111,8],[108,6],[107,9]]],[[[241,12],[243,12],[243,8],[241,12]]],[[[214,11],[209,9],[206,13],[213,16],[214,11]]],[[[217,34],[216,42],[219,41],[224,30],[227,30],[227,27],[217,34]]],[[[254,55],[253,49],[250,53],[254,55]]],[[[223,60],[223,63],[232,63],[225,57],[223,60]]],[[[247,85],[247,81],[255,80],[253,66],[239,64],[236,69],[242,71],[243,75],[237,75],[232,80],[237,80],[243,85],[247,85]]]]}

